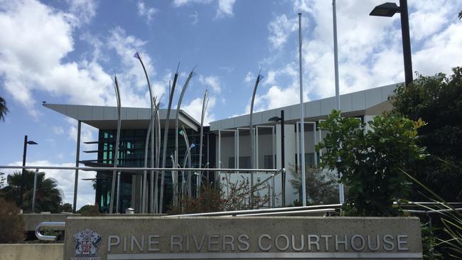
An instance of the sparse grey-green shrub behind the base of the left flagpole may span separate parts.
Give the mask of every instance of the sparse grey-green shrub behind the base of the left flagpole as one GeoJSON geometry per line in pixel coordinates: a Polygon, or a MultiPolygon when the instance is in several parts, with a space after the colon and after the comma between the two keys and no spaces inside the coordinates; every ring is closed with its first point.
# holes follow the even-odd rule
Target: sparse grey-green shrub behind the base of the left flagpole
{"type": "MultiPolygon", "coordinates": [[[[301,170],[291,169],[294,179],[290,183],[301,195],[301,170]]],[[[306,202],[308,205],[338,203],[338,180],[331,171],[321,168],[306,168],[306,202]]]]}

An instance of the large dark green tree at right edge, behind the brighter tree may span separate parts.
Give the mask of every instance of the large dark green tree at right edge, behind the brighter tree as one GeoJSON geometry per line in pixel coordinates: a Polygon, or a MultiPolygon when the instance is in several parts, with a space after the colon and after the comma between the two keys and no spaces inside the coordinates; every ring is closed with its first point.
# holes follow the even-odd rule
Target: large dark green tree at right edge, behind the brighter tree
{"type": "MultiPolygon", "coordinates": [[[[444,200],[462,202],[462,67],[453,68],[451,76],[419,75],[409,86],[398,87],[390,100],[394,113],[426,122],[417,142],[429,157],[409,173],[444,200]]],[[[428,200],[427,195],[413,193],[409,199],[428,200]]]]}

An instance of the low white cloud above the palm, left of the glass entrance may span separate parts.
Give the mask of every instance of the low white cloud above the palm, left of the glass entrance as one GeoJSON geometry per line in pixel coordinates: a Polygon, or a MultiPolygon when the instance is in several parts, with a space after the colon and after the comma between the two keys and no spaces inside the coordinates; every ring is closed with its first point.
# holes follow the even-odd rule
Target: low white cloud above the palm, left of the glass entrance
{"type": "MultiPolygon", "coordinates": [[[[22,161],[10,163],[9,166],[21,166],[22,161]]],[[[47,160],[30,161],[29,166],[57,166],[57,167],[74,167],[75,163],[53,163],[47,160]]],[[[12,174],[17,170],[7,170],[6,174],[12,174]]],[[[45,178],[53,178],[57,181],[58,188],[63,191],[64,203],[73,203],[74,197],[74,178],[75,170],[41,170],[45,172],[45,178]]],[[[93,190],[92,182],[82,180],[82,178],[95,178],[94,171],[79,171],[79,180],[77,187],[77,209],[87,204],[95,204],[95,190],[93,190]]]]}

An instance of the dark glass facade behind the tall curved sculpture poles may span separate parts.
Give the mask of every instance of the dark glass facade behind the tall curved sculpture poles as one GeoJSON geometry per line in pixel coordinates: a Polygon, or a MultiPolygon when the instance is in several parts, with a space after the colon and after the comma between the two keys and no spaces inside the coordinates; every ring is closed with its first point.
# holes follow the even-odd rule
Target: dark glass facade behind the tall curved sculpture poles
{"type": "MultiPolygon", "coordinates": [[[[117,166],[119,167],[144,167],[144,150],[145,150],[145,141],[146,141],[146,129],[122,129],[120,132],[119,140],[119,156],[117,166]]],[[[171,160],[171,155],[173,155],[175,150],[175,136],[174,129],[168,131],[168,146],[166,153],[166,167],[171,168],[173,162],[171,160]]],[[[98,150],[97,150],[97,160],[96,163],[92,163],[92,166],[109,166],[112,167],[114,164],[114,150],[115,150],[115,139],[116,139],[116,130],[114,129],[100,129],[98,136],[98,150]]],[[[198,167],[199,161],[199,134],[192,129],[186,129],[186,134],[188,136],[188,141],[190,144],[190,154],[191,154],[191,167],[198,167]]],[[[163,149],[163,130],[161,131],[161,153],[163,149]]],[[[204,139],[205,141],[205,139],[204,139]]],[[[206,153],[206,149],[203,149],[203,153],[206,153]]],[[[178,134],[178,163],[181,168],[183,168],[183,162],[186,158],[186,143],[181,134],[178,134]]],[[[95,152],[95,151],[93,151],[95,152]]],[[[205,157],[203,157],[203,164],[205,164],[205,157]]],[[[162,160],[162,158],[160,158],[162,160]]],[[[95,161],[95,160],[93,160],[95,161]]],[[[188,168],[186,163],[186,168],[188,168]]],[[[151,165],[151,142],[148,146],[148,161],[147,166],[151,165]]],[[[154,162],[156,165],[156,162],[154,162]]],[[[159,162],[161,166],[161,161],[159,162]]],[[[111,185],[112,185],[112,171],[102,170],[97,172],[96,178],[96,197],[95,203],[100,206],[100,212],[109,212],[109,202],[111,197],[111,185]]],[[[148,182],[149,182],[149,172],[148,172],[148,182]]],[[[141,177],[142,171],[136,174],[135,172],[122,171],[120,176],[120,197],[119,197],[119,212],[125,212],[129,207],[135,209],[135,212],[140,210],[140,201],[141,201],[141,177]]],[[[178,174],[178,183],[181,183],[181,174],[178,174]]],[[[194,177],[193,177],[194,178],[194,177]]],[[[194,180],[194,179],[193,179],[194,180]]],[[[163,195],[163,212],[165,212],[166,207],[171,204],[171,199],[173,195],[172,191],[172,179],[171,172],[166,172],[164,183],[164,195],[163,195]]],[[[161,180],[159,178],[159,185],[161,180]]],[[[193,183],[193,190],[195,189],[195,181],[193,183]]],[[[117,185],[116,185],[117,189],[117,185]]],[[[160,189],[159,189],[160,190],[160,189]]],[[[117,190],[116,194],[117,196],[117,190]]],[[[114,210],[116,209],[115,202],[116,197],[114,197],[114,210]]]]}

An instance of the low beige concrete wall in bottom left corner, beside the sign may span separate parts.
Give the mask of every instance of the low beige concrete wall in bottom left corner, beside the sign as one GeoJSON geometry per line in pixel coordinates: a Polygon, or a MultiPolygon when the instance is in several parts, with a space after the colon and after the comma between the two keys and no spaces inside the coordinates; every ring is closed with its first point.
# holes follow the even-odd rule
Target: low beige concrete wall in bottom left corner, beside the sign
{"type": "Polygon", "coordinates": [[[0,244],[0,260],[61,260],[64,244],[0,244]]]}

